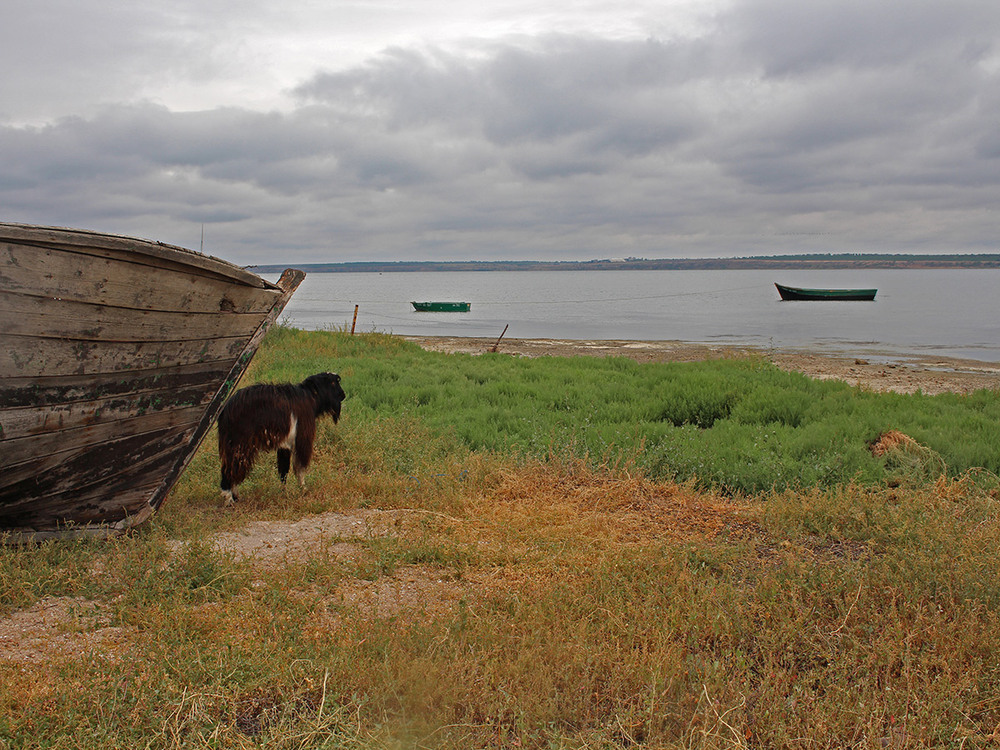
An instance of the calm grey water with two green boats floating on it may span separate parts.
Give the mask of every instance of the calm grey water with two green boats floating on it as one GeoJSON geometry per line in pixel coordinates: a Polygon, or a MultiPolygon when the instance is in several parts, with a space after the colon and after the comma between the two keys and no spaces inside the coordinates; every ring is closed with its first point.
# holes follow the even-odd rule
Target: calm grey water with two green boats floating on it
{"type": "MultiPolygon", "coordinates": [[[[272,276],[270,278],[277,278],[272,276]]],[[[401,335],[680,340],[1000,361],[1000,270],[313,273],[285,308],[300,328],[401,335]],[[779,281],[878,287],[874,302],[782,302],[779,281]],[[418,313],[411,300],[464,300],[418,313]]]]}

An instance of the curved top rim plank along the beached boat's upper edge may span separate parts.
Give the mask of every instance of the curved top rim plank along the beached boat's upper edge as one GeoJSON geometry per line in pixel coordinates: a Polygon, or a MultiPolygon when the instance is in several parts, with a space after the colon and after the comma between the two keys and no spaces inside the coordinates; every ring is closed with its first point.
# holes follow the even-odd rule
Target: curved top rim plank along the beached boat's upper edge
{"type": "Polygon", "coordinates": [[[39,247],[75,249],[101,257],[144,262],[154,267],[186,267],[204,277],[216,276],[258,289],[274,288],[273,284],[259,276],[219,258],[137,237],[81,229],[0,223],[0,240],[39,247]]]}

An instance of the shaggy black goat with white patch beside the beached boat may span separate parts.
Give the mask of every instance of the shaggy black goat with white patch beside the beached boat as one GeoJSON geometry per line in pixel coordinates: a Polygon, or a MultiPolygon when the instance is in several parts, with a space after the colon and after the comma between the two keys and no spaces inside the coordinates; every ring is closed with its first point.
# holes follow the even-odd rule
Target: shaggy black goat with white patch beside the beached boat
{"type": "Polygon", "coordinates": [[[219,414],[223,502],[239,500],[236,486],[246,479],[260,451],[277,450],[282,483],[294,455],[295,476],[304,486],[316,419],[329,414],[336,424],[344,398],[340,375],[333,372],[310,375],[298,385],[251,385],[233,394],[219,414]]]}

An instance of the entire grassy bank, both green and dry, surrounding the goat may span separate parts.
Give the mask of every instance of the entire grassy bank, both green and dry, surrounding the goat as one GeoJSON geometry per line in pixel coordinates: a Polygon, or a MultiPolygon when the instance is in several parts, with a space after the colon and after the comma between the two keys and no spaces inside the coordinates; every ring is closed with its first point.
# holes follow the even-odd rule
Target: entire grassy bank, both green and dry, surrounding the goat
{"type": "Polygon", "coordinates": [[[0,547],[0,613],[63,614],[0,650],[0,747],[998,740],[996,394],[290,329],[250,377],[325,369],[305,490],[220,508],[210,439],[140,533],[0,547]]]}

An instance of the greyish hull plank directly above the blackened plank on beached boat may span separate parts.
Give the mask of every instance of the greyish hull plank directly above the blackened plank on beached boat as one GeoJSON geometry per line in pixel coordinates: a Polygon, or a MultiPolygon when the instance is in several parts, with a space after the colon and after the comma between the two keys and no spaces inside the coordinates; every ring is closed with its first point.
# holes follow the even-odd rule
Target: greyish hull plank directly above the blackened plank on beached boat
{"type": "Polygon", "coordinates": [[[0,340],[0,382],[89,373],[127,373],[207,362],[232,362],[246,345],[245,337],[212,337],[202,341],[93,342],[4,336],[0,340]]]}

